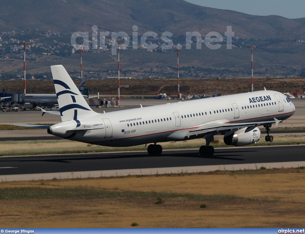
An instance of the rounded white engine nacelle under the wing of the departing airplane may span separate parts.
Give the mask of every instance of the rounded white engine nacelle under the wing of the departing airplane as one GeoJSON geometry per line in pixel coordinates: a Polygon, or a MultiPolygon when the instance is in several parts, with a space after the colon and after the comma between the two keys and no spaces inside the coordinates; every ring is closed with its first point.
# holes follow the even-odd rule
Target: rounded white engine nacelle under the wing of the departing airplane
{"type": "Polygon", "coordinates": [[[224,143],[230,146],[246,146],[257,143],[260,139],[260,129],[255,128],[249,132],[245,132],[247,128],[242,128],[224,137],[224,143]]]}

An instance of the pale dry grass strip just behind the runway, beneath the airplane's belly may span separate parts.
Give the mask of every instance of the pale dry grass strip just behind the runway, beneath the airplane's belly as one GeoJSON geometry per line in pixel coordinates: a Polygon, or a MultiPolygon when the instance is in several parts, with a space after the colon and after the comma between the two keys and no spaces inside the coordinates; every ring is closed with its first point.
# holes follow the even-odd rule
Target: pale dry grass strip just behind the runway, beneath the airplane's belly
{"type": "MultiPolygon", "coordinates": [[[[275,145],[300,145],[304,144],[305,136],[276,136],[273,142],[266,142],[263,137],[255,146],[275,146],[275,145]]],[[[193,139],[178,142],[163,142],[163,150],[171,149],[199,149],[205,144],[203,139],[193,139]]],[[[217,147],[235,147],[224,144],[223,136],[215,136],[215,141],[211,143],[217,147]]],[[[1,141],[0,156],[16,155],[42,155],[42,154],[66,154],[66,153],[98,153],[98,152],[118,152],[118,151],[146,151],[145,145],[130,147],[108,147],[97,146],[88,143],[70,140],[33,140],[33,141],[1,141]],[[16,147],[18,146],[18,147],[16,147]]]]}

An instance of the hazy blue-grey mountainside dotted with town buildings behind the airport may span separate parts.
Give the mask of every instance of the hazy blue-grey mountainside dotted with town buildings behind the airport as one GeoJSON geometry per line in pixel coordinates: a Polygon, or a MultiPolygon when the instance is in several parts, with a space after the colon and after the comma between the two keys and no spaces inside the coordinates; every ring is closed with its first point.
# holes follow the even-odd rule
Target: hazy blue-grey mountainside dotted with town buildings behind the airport
{"type": "MultiPolygon", "coordinates": [[[[166,31],[173,33],[174,45],[182,44],[181,77],[249,77],[249,45],[256,46],[255,77],[305,74],[305,18],[247,15],[183,0],[1,0],[0,33],[15,33],[0,34],[8,42],[0,46],[0,72],[22,77],[23,47],[19,41],[34,39],[32,47],[27,49],[27,74],[41,77],[38,74],[49,72],[50,65],[63,64],[77,77],[80,59],[79,54],[71,52],[70,35],[77,31],[90,34],[93,25],[98,26],[98,33],[123,31],[132,36],[134,25],[138,26],[138,36],[149,31],[159,36],[166,31]],[[214,31],[225,40],[227,26],[232,26],[234,32],[231,50],[226,49],[226,41],[218,50],[210,50],[204,43],[201,50],[196,50],[195,44],[191,50],[185,49],[186,32],[199,32],[204,39],[214,31]],[[60,33],[60,37],[42,35],[48,30],[60,33]]],[[[122,74],[176,77],[174,50],[128,48],[121,53],[122,74]]],[[[117,74],[117,56],[112,56],[110,50],[89,50],[83,53],[83,67],[84,76],[113,77],[117,74]]],[[[10,78],[7,74],[3,77],[10,78]]]]}

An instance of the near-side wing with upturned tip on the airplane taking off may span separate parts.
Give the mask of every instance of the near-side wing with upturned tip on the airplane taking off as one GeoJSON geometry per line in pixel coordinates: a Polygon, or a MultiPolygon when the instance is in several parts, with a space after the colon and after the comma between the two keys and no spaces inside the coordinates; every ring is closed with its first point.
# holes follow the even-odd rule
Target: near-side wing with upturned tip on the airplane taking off
{"type": "Polygon", "coordinates": [[[275,125],[278,126],[278,123],[280,122],[282,121],[275,118],[273,121],[246,122],[246,123],[230,123],[228,119],[218,119],[218,120],[206,122],[198,126],[197,128],[192,129],[186,134],[186,136],[193,136],[193,135],[210,133],[210,132],[213,132],[215,133],[213,135],[216,135],[218,132],[225,130],[229,132],[229,134],[227,133],[226,135],[230,135],[231,133],[241,128],[247,128],[245,132],[249,132],[254,128],[256,128],[257,126],[262,126],[264,124],[271,124],[271,123],[275,123],[275,125]]]}

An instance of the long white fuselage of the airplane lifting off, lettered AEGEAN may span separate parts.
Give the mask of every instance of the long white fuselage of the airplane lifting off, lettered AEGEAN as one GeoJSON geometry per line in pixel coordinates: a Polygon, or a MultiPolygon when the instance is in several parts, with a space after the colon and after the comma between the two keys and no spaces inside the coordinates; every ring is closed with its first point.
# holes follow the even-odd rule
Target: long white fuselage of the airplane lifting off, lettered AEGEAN
{"type": "MultiPolygon", "coordinates": [[[[52,134],[96,145],[133,146],[185,140],[190,130],[214,120],[225,120],[224,123],[285,120],[294,112],[295,106],[282,93],[256,91],[79,118],[53,125],[52,134]],[[77,126],[92,130],[66,131],[77,126]]],[[[203,136],[192,138],[196,137],[203,136]]]]}

